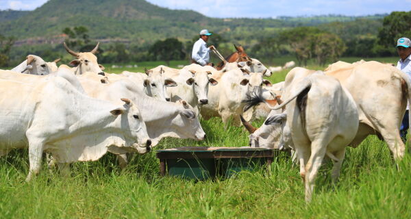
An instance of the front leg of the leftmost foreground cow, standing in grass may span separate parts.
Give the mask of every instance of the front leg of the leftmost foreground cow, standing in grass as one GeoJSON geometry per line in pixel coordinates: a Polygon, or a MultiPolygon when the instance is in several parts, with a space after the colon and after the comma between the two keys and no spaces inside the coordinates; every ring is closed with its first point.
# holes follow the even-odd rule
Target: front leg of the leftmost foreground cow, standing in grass
{"type": "Polygon", "coordinates": [[[29,140],[30,167],[26,181],[30,181],[33,175],[37,175],[40,172],[43,146],[44,144],[41,140],[29,140]]]}

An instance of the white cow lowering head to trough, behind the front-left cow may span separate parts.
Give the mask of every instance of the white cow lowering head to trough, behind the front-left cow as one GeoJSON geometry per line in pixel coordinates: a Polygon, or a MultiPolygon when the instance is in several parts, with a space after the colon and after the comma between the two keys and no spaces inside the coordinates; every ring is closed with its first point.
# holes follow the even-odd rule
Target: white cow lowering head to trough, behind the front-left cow
{"type": "MultiPolygon", "coordinates": [[[[206,138],[198,117],[192,107],[185,101],[170,103],[146,96],[129,80],[115,81],[102,84],[98,81],[80,79],[86,92],[95,98],[116,101],[118,96],[131,99],[138,106],[145,118],[147,133],[151,138],[151,146],[155,146],[162,138],[190,138],[203,140],[206,138]]],[[[125,168],[127,156],[119,156],[120,167],[125,168]]]]}

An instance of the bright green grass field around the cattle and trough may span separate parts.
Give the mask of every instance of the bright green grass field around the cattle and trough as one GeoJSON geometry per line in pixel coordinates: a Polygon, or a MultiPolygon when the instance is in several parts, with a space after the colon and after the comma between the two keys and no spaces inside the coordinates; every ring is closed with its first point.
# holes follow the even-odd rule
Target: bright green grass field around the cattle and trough
{"type": "MultiPolygon", "coordinates": [[[[138,65],[129,70],[140,71],[138,65]]],[[[269,79],[282,81],[286,73],[269,79]]],[[[201,125],[206,140],[166,139],[155,149],[248,144],[242,127],[224,130],[220,118],[201,125]]],[[[397,168],[375,136],[347,150],[338,183],[331,182],[331,164],[321,168],[310,204],[303,200],[299,168],[285,155],[269,170],[198,182],[160,177],[154,151],[134,155],[123,172],[114,155],[76,163],[68,178],[44,162],[40,175],[26,183],[27,157],[26,150],[0,158],[0,218],[411,218],[411,157],[397,168]]]]}

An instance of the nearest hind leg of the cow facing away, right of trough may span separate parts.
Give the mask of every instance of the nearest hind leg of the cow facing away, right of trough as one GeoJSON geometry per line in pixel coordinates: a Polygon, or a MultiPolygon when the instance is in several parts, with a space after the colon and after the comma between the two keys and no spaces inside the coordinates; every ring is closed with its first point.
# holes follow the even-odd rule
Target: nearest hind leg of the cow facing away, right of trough
{"type": "Polygon", "coordinates": [[[324,138],[314,140],[311,144],[311,156],[306,164],[306,201],[310,202],[314,190],[316,175],[323,162],[327,144],[324,138]]]}

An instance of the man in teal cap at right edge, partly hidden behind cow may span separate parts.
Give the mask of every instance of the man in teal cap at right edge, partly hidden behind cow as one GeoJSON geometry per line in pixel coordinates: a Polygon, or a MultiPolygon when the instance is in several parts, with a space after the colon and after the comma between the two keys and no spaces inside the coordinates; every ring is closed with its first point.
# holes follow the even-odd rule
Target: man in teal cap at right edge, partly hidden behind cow
{"type": "MultiPolygon", "coordinates": [[[[397,63],[397,68],[401,70],[403,73],[406,73],[408,77],[411,79],[411,40],[408,38],[399,38],[397,41],[397,51],[400,57],[400,60],[397,63]]],[[[407,130],[410,124],[408,124],[408,105],[406,114],[401,123],[401,127],[399,128],[399,134],[403,140],[406,142],[407,138],[407,130]]]]}

